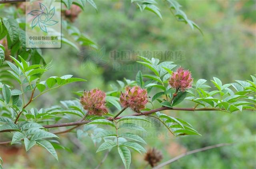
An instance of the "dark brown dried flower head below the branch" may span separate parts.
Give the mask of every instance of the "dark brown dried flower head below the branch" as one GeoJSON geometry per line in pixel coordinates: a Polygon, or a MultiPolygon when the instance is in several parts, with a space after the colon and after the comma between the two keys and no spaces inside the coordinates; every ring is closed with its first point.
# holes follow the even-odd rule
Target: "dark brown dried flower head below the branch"
{"type": "Polygon", "coordinates": [[[163,159],[161,151],[156,148],[149,149],[144,157],[144,160],[147,161],[151,167],[156,166],[158,162],[163,159]]]}

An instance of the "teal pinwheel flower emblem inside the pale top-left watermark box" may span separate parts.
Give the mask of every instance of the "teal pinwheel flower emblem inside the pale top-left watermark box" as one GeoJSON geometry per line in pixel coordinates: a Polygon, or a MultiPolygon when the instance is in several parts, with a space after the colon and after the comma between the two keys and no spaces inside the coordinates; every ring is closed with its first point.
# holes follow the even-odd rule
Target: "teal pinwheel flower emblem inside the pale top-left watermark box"
{"type": "Polygon", "coordinates": [[[48,33],[47,26],[53,26],[58,23],[58,21],[52,20],[55,14],[55,7],[49,10],[42,3],[39,3],[39,6],[40,10],[32,10],[28,13],[29,15],[35,16],[32,20],[31,27],[33,29],[35,26],[39,25],[42,31],[48,33]]]}

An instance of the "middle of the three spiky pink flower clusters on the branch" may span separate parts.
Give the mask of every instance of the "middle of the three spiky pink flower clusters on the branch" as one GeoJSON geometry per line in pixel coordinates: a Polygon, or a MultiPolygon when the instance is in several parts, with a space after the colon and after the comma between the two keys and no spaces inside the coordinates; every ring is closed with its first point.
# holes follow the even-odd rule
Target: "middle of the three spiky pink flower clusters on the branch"
{"type": "Polygon", "coordinates": [[[120,95],[120,102],[124,107],[130,107],[135,112],[145,108],[147,100],[147,90],[140,88],[139,86],[126,87],[126,92],[120,95]]]}

